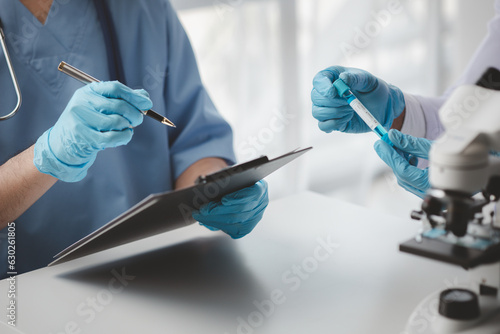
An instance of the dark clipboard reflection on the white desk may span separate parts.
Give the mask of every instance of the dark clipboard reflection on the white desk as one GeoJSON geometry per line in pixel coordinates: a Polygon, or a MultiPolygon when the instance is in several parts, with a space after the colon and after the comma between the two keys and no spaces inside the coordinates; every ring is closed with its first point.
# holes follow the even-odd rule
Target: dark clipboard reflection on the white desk
{"type": "Polygon", "coordinates": [[[109,290],[126,289],[148,302],[168,300],[225,312],[262,294],[236,252],[225,236],[197,238],[56,277],[99,290],[110,285],[109,290]]]}

